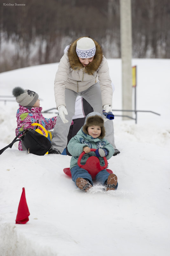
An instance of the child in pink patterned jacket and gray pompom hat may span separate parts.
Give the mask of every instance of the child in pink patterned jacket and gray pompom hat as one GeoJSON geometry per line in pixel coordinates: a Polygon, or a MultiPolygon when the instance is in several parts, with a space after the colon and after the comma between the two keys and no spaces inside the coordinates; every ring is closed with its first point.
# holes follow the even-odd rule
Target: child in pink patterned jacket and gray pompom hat
{"type": "MultiPolygon", "coordinates": [[[[17,110],[17,128],[15,130],[16,136],[19,132],[24,129],[31,128],[36,129],[36,126],[31,126],[32,123],[41,124],[46,130],[51,130],[54,128],[57,120],[57,116],[52,118],[44,118],[41,113],[42,107],[40,107],[40,100],[38,99],[38,94],[35,91],[28,89],[22,89],[21,87],[15,87],[12,91],[16,101],[19,103],[19,108],[17,110]]],[[[38,126],[38,129],[44,134],[44,130],[38,126]]],[[[45,135],[45,134],[44,134],[45,135]]],[[[19,141],[19,150],[24,150],[22,148],[22,142],[19,141]]]]}

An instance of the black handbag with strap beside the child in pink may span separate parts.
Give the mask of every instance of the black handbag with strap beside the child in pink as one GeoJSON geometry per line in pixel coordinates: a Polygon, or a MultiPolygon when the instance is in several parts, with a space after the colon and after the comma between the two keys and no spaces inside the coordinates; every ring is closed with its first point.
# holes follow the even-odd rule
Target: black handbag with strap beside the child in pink
{"type": "Polygon", "coordinates": [[[51,142],[49,141],[49,139],[47,139],[47,137],[31,128],[28,128],[20,132],[8,146],[1,149],[0,155],[7,148],[12,148],[12,145],[17,141],[22,141],[22,144],[24,145],[28,153],[38,156],[44,156],[45,153],[51,148],[51,142]],[[17,139],[21,134],[22,136],[17,139]]]}

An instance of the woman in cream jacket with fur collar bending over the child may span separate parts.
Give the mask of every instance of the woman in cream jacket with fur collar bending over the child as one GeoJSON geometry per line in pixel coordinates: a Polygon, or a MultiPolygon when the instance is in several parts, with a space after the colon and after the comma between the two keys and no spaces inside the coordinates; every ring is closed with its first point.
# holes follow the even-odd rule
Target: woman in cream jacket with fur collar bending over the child
{"type": "MultiPolygon", "coordinates": [[[[92,38],[81,37],[69,46],[58,65],[54,93],[59,116],[53,131],[49,154],[61,154],[67,145],[67,135],[75,113],[77,96],[88,101],[96,112],[101,114],[103,110],[112,112],[109,67],[99,43],[92,38]]],[[[104,120],[107,120],[105,138],[116,149],[113,122],[105,117],[104,120]]]]}

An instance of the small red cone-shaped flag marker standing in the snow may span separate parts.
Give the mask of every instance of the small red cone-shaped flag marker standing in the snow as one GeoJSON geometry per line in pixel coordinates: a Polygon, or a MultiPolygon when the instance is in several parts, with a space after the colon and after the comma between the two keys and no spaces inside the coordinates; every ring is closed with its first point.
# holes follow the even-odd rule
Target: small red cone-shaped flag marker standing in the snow
{"type": "Polygon", "coordinates": [[[30,215],[29,209],[27,206],[27,201],[25,198],[25,188],[23,188],[23,192],[21,195],[21,199],[18,206],[18,212],[16,217],[16,224],[25,224],[27,221],[29,221],[28,216],[30,215]]]}

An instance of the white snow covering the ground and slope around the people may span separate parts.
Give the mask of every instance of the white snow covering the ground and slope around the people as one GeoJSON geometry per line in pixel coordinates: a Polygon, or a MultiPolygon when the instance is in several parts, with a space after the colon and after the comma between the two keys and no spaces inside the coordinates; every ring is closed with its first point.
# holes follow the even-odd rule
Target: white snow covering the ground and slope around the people
{"type": "MultiPolygon", "coordinates": [[[[121,60],[108,63],[113,108],[121,109],[121,60]]],[[[137,109],[161,115],[139,113],[137,125],[115,117],[121,153],[109,160],[109,168],[118,176],[118,190],[105,192],[96,185],[84,193],[63,173],[70,156],[36,156],[18,151],[16,144],[0,155],[0,256],[169,256],[170,60],[133,59],[133,65],[138,68],[137,109]],[[19,225],[23,187],[30,216],[19,225]]],[[[0,95],[22,86],[38,92],[43,110],[55,107],[57,66],[1,73],[0,95]]],[[[0,107],[1,149],[15,137],[18,104],[0,101],[0,107]]]]}

